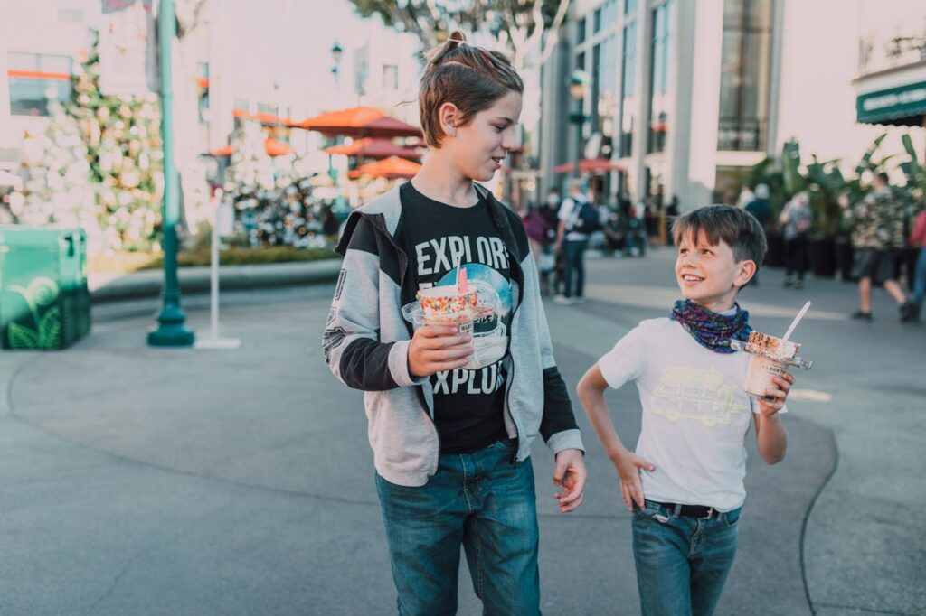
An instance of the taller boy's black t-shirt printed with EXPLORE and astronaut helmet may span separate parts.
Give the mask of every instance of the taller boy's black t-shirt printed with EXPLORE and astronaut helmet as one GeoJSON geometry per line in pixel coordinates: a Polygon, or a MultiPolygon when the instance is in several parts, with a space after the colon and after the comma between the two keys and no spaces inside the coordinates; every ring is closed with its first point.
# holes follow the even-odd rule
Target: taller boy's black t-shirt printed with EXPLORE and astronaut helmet
{"type": "Polygon", "coordinates": [[[431,377],[441,453],[481,450],[507,438],[502,368],[512,306],[507,248],[482,197],[471,207],[454,207],[424,196],[411,182],[399,196],[402,219],[395,239],[408,255],[417,288],[455,284],[457,269],[464,267],[469,284],[497,300],[494,311],[473,323],[473,347],[482,367],[431,377]]]}

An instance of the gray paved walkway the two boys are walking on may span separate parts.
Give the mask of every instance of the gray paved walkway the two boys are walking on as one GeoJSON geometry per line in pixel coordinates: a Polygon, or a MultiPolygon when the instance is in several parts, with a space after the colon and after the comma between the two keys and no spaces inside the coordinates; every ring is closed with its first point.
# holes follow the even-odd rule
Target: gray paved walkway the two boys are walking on
{"type": "MultiPolygon", "coordinates": [[[[677,296],[674,255],[590,262],[589,302],[547,302],[557,361],[582,372],[677,296]]],[[[760,331],[815,361],[786,417],[788,458],[750,444],[740,551],[720,614],[926,613],[922,460],[926,326],[901,326],[883,291],[875,321],[845,314],[856,289],[780,271],[741,300],[760,331]],[[911,524],[913,521],[913,524],[911,524]]],[[[226,296],[238,351],[144,345],[156,302],[94,313],[69,351],[0,353],[0,614],[389,614],[394,589],[362,394],[321,360],[332,285],[226,296]]],[[[205,336],[206,300],[189,298],[205,336]]],[[[609,394],[625,441],[634,388],[609,394]]],[[[617,474],[577,408],[590,481],[557,513],[552,461],[534,450],[545,614],[639,612],[617,474]]],[[[750,437],[751,438],[751,437],[750,437]]],[[[461,573],[460,613],[479,613],[461,573]]]]}

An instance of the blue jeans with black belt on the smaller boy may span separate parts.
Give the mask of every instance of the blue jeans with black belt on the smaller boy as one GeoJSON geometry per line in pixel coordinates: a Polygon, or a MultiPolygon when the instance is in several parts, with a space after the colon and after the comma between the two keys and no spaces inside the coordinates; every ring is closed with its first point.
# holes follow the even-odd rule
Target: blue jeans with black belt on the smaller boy
{"type": "Polygon", "coordinates": [[[633,511],[643,616],[709,616],[736,555],[740,509],[698,519],[651,500],[633,511]]]}

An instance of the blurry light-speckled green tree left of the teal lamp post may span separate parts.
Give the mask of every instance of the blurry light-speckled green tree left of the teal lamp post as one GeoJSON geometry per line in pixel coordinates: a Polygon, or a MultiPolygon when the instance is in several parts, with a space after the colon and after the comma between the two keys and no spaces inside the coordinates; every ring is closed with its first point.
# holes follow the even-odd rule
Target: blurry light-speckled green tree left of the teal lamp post
{"type": "Polygon", "coordinates": [[[100,92],[99,47],[71,77],[71,98],[52,105],[37,142],[24,155],[25,201],[19,219],[85,228],[91,249],[148,251],[160,225],[160,106],[156,96],[100,92]],[[88,183],[89,182],[89,183],[88,183]]]}

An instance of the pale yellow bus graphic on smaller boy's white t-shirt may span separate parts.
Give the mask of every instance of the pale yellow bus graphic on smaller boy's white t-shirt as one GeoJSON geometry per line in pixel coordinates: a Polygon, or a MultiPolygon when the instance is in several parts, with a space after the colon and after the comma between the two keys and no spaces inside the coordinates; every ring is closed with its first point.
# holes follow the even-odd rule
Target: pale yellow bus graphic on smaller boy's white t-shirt
{"type": "Polygon", "coordinates": [[[733,414],[743,413],[736,393],[716,368],[667,368],[653,388],[649,408],[671,422],[694,419],[714,427],[729,424],[733,414]]]}

